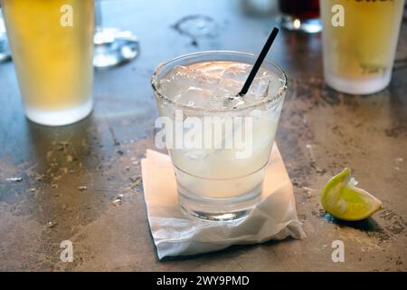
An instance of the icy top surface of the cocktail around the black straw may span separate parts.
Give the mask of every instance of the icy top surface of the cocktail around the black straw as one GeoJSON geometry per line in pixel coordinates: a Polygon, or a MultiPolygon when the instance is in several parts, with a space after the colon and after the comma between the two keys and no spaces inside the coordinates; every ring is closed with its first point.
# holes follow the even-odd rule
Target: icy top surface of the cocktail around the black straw
{"type": "Polygon", "coordinates": [[[243,98],[236,98],[251,71],[251,64],[230,62],[177,65],[161,80],[166,96],[190,107],[236,109],[275,95],[281,86],[276,75],[260,68],[243,98]]]}

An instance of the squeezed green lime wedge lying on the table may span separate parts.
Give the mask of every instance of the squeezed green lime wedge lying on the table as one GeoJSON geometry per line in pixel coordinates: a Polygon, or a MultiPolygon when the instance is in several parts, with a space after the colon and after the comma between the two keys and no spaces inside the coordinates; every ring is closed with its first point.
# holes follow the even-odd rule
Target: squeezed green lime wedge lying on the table
{"type": "Polygon", "coordinates": [[[334,218],[361,220],[382,208],[382,202],[364,189],[358,189],[351,169],[345,168],[322,189],[321,203],[334,218]]]}

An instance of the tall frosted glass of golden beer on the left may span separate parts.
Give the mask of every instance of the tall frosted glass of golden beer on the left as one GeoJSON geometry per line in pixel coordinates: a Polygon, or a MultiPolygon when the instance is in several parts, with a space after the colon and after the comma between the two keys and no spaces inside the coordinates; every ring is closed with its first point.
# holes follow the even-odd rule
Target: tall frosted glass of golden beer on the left
{"type": "Polygon", "coordinates": [[[92,110],[93,0],[0,0],[27,118],[50,126],[92,110]]]}

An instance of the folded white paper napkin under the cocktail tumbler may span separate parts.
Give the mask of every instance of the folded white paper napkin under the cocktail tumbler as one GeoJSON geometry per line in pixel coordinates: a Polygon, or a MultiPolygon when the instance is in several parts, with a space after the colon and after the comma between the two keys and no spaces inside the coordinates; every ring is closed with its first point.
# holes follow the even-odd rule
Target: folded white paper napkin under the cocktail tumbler
{"type": "Polygon", "coordinates": [[[147,150],[141,160],[147,218],[159,259],[221,250],[232,245],[262,243],[285,237],[303,238],[292,184],[274,144],[260,203],[245,217],[209,221],[190,217],[178,206],[169,156],[147,150]]]}

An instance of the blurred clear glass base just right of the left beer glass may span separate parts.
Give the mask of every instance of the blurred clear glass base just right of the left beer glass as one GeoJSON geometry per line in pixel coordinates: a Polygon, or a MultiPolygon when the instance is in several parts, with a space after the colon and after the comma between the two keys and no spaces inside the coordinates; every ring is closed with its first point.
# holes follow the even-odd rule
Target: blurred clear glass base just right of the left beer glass
{"type": "Polygon", "coordinates": [[[109,68],[128,63],[137,57],[139,43],[136,35],[116,28],[99,28],[94,36],[93,66],[109,68]]]}

